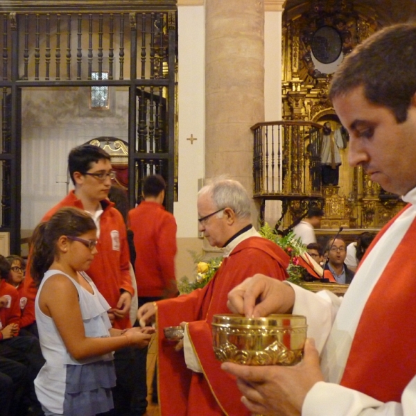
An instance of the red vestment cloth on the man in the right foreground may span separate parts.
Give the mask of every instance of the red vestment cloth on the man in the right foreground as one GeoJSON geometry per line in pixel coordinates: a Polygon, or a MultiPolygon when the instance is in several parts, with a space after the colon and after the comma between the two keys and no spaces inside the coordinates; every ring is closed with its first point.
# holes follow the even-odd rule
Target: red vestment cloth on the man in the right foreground
{"type": "Polygon", "coordinates": [[[413,220],[364,306],[340,383],[383,402],[401,401],[401,393],[416,374],[415,241],[413,220]]]}

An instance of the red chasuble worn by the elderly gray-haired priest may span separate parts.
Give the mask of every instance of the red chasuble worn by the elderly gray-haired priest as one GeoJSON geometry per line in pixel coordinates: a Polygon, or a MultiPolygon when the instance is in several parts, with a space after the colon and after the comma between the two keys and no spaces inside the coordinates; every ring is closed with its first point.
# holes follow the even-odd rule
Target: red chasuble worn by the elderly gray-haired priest
{"type": "Polygon", "coordinates": [[[261,237],[239,243],[223,260],[214,278],[189,295],[157,302],[159,333],[159,406],[162,416],[250,415],[241,404],[233,376],[220,369],[214,356],[211,322],[216,313],[229,313],[227,295],[247,277],[263,273],[279,280],[287,277],[289,257],[278,245],[261,237]],[[164,339],[163,328],[189,322],[193,349],[203,373],[189,370],[183,352],[164,339]]]}

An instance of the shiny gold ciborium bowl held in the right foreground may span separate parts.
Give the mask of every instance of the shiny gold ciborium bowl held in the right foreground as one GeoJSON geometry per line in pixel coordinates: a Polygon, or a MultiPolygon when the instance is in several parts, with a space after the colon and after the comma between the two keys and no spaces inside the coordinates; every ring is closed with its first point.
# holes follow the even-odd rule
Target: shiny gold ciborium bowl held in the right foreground
{"type": "Polygon", "coordinates": [[[214,315],[214,353],[220,361],[243,365],[295,365],[302,360],[306,329],[302,315],[214,315]]]}

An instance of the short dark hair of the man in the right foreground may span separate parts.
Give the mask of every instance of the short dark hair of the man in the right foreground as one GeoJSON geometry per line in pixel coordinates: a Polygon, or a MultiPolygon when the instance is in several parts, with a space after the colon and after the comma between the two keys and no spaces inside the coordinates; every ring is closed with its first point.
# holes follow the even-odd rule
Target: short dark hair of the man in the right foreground
{"type": "Polygon", "coordinates": [[[384,28],[357,46],[333,76],[329,98],[363,87],[365,98],[387,107],[397,123],[407,119],[416,93],[416,24],[384,28]]]}

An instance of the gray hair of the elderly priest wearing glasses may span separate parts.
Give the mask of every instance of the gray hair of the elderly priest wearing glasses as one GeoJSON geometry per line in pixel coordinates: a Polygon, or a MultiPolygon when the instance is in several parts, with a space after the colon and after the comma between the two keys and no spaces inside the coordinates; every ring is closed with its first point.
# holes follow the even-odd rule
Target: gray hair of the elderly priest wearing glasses
{"type": "MultiPolygon", "coordinates": [[[[232,179],[218,177],[198,192],[198,198],[208,193],[216,208],[231,208],[237,218],[250,218],[251,202],[243,185],[232,179]]],[[[218,213],[221,216],[223,213],[218,213]]]]}

